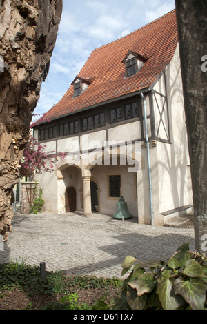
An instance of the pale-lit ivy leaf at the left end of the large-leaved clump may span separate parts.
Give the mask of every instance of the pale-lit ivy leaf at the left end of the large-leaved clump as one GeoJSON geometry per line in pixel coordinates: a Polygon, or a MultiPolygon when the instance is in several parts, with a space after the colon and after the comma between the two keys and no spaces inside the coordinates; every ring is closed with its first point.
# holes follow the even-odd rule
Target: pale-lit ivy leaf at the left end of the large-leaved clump
{"type": "Polygon", "coordinates": [[[152,274],[143,274],[135,281],[128,283],[130,287],[137,290],[137,296],[152,292],[155,287],[155,280],[152,274]]]}

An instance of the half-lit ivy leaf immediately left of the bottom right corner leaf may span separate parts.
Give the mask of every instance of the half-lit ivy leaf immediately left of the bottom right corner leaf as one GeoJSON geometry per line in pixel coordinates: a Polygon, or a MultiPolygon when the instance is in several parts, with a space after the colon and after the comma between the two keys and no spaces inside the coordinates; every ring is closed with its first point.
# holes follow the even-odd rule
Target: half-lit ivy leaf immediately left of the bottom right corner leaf
{"type": "Polygon", "coordinates": [[[158,283],[157,294],[164,310],[175,310],[183,305],[183,299],[175,295],[172,279],[161,278],[158,283]]]}

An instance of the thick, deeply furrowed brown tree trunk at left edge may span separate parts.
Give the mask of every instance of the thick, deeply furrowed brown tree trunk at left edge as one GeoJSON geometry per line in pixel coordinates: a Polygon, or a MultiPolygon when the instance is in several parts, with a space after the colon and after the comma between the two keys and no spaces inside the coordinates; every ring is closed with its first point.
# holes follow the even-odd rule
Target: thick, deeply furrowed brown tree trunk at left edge
{"type": "Polygon", "coordinates": [[[61,12],[62,0],[0,0],[0,235],[4,240],[11,231],[19,160],[49,70],[61,12]]]}

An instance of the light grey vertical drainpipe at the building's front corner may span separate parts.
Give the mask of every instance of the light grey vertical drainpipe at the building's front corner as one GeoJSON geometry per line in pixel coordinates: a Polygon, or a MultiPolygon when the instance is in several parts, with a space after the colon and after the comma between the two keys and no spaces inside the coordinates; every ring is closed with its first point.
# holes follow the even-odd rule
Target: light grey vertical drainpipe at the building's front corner
{"type": "Polygon", "coordinates": [[[144,108],[144,126],[145,126],[145,134],[146,134],[146,148],[147,148],[147,156],[148,156],[148,176],[149,176],[149,190],[150,190],[150,221],[151,225],[154,225],[154,213],[153,213],[153,204],[152,204],[152,179],[151,179],[151,165],[150,165],[150,147],[148,141],[148,125],[147,125],[147,117],[146,117],[146,100],[144,98],[144,94],[140,92],[141,98],[143,99],[143,108],[144,108]]]}

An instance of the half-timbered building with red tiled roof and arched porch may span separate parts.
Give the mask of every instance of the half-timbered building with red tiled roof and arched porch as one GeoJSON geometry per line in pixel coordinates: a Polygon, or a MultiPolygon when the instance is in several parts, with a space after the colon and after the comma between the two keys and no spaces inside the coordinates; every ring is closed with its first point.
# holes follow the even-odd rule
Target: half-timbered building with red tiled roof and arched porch
{"type": "Polygon", "coordinates": [[[45,118],[34,136],[68,154],[36,177],[46,210],[113,215],[124,196],[163,225],[192,205],[175,10],[93,50],[45,118]]]}

